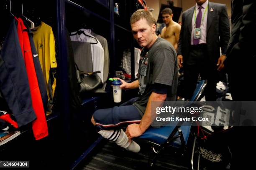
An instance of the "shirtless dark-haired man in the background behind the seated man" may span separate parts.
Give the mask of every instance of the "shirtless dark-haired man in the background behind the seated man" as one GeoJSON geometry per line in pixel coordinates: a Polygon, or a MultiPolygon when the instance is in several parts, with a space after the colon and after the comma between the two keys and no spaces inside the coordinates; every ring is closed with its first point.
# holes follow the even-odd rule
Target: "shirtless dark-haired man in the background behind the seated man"
{"type": "Polygon", "coordinates": [[[164,8],[161,14],[163,21],[166,24],[166,27],[162,29],[161,37],[171,42],[174,48],[177,49],[181,26],[172,20],[173,14],[170,8],[164,8]]]}

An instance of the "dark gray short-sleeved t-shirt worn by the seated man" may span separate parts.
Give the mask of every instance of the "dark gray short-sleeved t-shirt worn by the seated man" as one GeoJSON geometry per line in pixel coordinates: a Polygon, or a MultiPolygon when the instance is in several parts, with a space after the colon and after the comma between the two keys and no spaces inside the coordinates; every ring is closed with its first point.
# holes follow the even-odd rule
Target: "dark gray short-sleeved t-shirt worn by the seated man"
{"type": "Polygon", "coordinates": [[[143,48],[139,63],[139,97],[133,104],[144,114],[154,83],[168,85],[166,100],[175,101],[178,85],[177,53],[170,42],[160,37],[149,48],[143,48]]]}

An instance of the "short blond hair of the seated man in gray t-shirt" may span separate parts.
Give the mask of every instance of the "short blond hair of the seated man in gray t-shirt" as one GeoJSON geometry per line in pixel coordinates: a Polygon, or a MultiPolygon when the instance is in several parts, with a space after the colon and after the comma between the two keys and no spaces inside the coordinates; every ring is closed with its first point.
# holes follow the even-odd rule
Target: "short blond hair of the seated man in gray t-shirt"
{"type": "Polygon", "coordinates": [[[156,24],[156,20],[153,15],[148,10],[136,10],[130,18],[130,23],[136,23],[137,21],[145,19],[148,22],[148,25],[156,24]]]}

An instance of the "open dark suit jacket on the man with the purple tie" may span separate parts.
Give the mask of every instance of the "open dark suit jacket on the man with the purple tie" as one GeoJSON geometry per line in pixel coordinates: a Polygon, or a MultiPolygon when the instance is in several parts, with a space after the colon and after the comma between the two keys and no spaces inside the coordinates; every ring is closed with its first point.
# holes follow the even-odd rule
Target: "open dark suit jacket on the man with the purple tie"
{"type": "MultiPolygon", "coordinates": [[[[182,14],[182,28],[179,35],[178,55],[183,56],[183,63],[186,64],[190,50],[192,17],[195,6],[189,8],[182,14]]],[[[222,54],[226,54],[228,40],[230,38],[229,20],[226,5],[209,2],[207,14],[207,50],[210,61],[217,63],[222,54]],[[211,10],[213,9],[213,11],[211,10]]]]}

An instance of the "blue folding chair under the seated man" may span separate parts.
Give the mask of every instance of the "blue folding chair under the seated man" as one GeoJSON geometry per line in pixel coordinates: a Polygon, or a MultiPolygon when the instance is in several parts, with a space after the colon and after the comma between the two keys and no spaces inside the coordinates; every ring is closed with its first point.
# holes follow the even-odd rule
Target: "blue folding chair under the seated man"
{"type": "MultiPolygon", "coordinates": [[[[193,101],[197,101],[207,84],[207,80],[199,80],[197,83],[197,87],[193,93],[189,104],[192,104],[193,101]]],[[[161,126],[160,128],[153,128],[150,127],[143,133],[138,140],[145,141],[152,145],[152,159],[149,160],[149,165],[152,167],[156,161],[157,156],[159,155],[160,151],[166,147],[172,146],[180,151],[182,155],[187,152],[187,141],[189,138],[189,134],[191,134],[193,138],[192,144],[192,155],[190,159],[190,164],[192,170],[194,170],[194,153],[197,151],[198,158],[197,158],[197,169],[199,169],[199,162],[200,162],[200,148],[197,145],[196,148],[196,135],[190,132],[191,124],[184,125],[183,121],[177,122],[176,126],[172,124],[172,126],[161,126]],[[182,125],[183,124],[183,125],[182,125]],[[197,149],[197,150],[196,150],[197,149]]]]}

